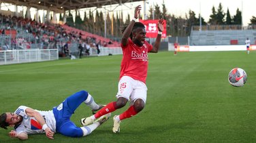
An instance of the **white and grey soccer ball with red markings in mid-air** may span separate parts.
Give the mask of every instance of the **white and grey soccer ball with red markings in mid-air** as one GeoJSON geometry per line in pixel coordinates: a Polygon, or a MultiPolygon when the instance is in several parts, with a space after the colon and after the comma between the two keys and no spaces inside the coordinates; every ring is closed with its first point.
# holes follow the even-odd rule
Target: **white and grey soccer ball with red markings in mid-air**
{"type": "Polygon", "coordinates": [[[229,72],[229,83],[235,87],[241,87],[247,80],[247,75],[242,68],[233,68],[229,72]]]}

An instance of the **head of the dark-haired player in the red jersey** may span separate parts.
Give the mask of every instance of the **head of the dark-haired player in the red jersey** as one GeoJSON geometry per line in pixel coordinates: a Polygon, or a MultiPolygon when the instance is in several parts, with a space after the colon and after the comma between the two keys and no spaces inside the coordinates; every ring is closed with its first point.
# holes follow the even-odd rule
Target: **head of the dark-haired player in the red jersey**
{"type": "MultiPolygon", "coordinates": [[[[125,28],[127,28],[127,26],[122,29],[122,33],[125,32],[125,28]]],[[[135,22],[133,29],[131,30],[130,38],[137,45],[141,46],[144,44],[146,38],[146,30],[142,22],[135,22]]]]}

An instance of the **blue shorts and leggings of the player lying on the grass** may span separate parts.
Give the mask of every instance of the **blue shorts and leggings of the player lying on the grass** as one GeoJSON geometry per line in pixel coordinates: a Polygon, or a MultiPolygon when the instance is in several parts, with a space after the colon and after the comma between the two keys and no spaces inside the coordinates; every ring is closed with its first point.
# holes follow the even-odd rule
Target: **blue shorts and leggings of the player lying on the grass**
{"type": "Polygon", "coordinates": [[[56,119],[56,131],[69,137],[82,137],[83,132],[77,127],[70,117],[82,102],[88,97],[87,91],[79,91],[66,98],[59,106],[53,108],[53,114],[56,119]]]}

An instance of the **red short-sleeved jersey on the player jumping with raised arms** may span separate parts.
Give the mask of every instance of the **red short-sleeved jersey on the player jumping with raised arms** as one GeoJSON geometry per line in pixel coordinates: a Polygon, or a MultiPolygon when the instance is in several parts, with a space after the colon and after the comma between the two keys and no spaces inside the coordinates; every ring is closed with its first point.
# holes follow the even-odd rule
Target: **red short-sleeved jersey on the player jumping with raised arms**
{"type": "Polygon", "coordinates": [[[148,75],[148,52],[153,49],[153,46],[148,42],[138,47],[131,39],[128,39],[126,46],[123,46],[123,60],[121,62],[120,79],[123,76],[129,76],[135,80],[146,83],[148,75]]]}

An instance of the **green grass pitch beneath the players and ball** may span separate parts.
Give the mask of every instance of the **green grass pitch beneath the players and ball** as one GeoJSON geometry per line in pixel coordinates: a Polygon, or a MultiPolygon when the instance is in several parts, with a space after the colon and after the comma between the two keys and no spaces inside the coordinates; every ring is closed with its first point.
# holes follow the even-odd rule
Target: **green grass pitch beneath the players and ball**
{"type": "MultiPolygon", "coordinates": [[[[116,100],[122,56],[57,60],[0,66],[0,113],[20,105],[50,110],[81,89],[96,102],[116,100]]],[[[255,142],[256,52],[173,52],[149,54],[148,98],[141,113],[112,133],[110,120],[84,138],[55,134],[29,136],[26,142],[255,142]],[[246,70],[243,87],[232,87],[232,68],[246,70]]],[[[71,120],[80,126],[91,110],[81,104],[71,120]]],[[[0,142],[19,142],[0,129],[0,142]]]]}

